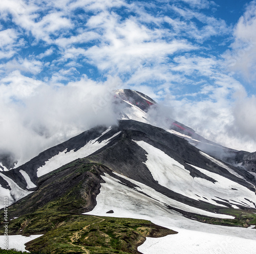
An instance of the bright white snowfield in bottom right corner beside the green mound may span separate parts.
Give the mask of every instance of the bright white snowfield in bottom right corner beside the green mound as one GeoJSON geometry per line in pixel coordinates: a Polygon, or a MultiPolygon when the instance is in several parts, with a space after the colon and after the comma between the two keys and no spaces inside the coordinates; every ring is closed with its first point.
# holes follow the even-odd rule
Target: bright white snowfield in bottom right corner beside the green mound
{"type": "Polygon", "coordinates": [[[178,229],[176,235],[146,238],[138,247],[143,254],[243,254],[255,253],[256,241],[239,237],[178,229]]]}

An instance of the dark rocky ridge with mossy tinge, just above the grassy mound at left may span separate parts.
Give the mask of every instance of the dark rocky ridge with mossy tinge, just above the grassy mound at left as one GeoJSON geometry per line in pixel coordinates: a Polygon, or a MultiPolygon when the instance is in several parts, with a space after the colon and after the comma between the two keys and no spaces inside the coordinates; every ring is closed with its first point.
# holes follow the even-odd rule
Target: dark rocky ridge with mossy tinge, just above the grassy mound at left
{"type": "Polygon", "coordinates": [[[104,182],[101,178],[103,172],[111,173],[103,165],[90,163],[87,159],[77,159],[40,177],[37,190],[12,204],[9,216],[19,217],[33,213],[54,201],[62,211],[77,214],[89,212],[96,205],[100,183],[104,182]]]}

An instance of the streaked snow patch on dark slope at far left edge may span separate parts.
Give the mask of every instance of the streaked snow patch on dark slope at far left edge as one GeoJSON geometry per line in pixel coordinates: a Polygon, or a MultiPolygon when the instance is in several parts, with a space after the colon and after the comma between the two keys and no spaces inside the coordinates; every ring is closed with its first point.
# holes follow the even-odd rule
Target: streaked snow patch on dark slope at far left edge
{"type": "MultiPolygon", "coordinates": [[[[20,188],[17,185],[17,183],[15,183],[11,178],[7,177],[1,172],[0,172],[0,176],[2,176],[8,182],[9,187],[11,188],[11,190],[9,190],[0,186],[0,200],[4,200],[4,197],[7,197],[8,205],[32,193],[31,191],[26,191],[20,188]]],[[[0,209],[3,207],[4,207],[4,202],[0,203],[0,209]]]]}

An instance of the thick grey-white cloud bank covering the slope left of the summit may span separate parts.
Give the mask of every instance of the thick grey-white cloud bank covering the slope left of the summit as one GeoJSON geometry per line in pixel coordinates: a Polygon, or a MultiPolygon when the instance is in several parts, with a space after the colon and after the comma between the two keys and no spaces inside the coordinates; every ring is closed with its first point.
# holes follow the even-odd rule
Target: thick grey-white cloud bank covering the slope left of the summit
{"type": "Polygon", "coordinates": [[[0,85],[1,96],[9,98],[0,100],[0,150],[13,152],[19,165],[84,130],[116,124],[111,91],[120,87],[118,78],[95,82],[84,76],[49,86],[12,77],[0,85]]]}

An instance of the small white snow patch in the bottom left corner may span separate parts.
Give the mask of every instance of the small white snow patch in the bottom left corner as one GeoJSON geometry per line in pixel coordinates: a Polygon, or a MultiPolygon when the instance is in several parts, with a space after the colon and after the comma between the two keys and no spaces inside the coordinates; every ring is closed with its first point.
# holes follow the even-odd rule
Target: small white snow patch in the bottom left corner
{"type": "MultiPolygon", "coordinates": [[[[33,236],[28,236],[28,237],[25,237],[25,236],[20,236],[20,235],[16,235],[16,236],[8,236],[8,249],[16,249],[16,250],[19,250],[19,251],[27,251],[29,252],[28,250],[25,249],[25,243],[28,243],[38,237],[40,237],[42,235],[33,235],[33,236]]],[[[0,247],[2,249],[5,249],[5,237],[6,236],[0,236],[0,247]]]]}

